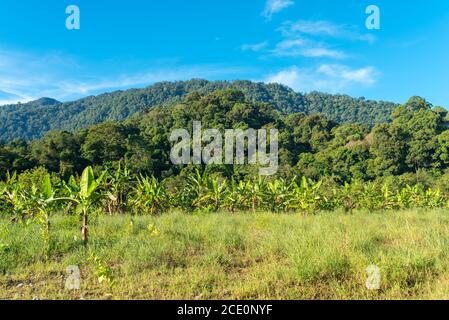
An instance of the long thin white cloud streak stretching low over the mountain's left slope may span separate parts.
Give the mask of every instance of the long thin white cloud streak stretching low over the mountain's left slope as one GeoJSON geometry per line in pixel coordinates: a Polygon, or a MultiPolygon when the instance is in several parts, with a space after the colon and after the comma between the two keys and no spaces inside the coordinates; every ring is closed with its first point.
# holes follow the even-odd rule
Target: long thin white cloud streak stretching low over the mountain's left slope
{"type": "Polygon", "coordinates": [[[30,54],[0,49],[0,105],[28,102],[41,97],[62,101],[131,87],[143,87],[159,81],[191,78],[222,78],[247,72],[247,68],[219,65],[157,64],[141,67],[144,71],[117,70],[106,63],[106,72],[94,69],[61,53],[30,54]]]}

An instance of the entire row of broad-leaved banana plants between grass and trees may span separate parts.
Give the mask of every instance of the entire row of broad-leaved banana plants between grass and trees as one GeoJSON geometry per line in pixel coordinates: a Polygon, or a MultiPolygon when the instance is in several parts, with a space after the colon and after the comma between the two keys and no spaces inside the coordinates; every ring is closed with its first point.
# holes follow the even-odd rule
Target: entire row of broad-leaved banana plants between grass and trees
{"type": "Polygon", "coordinates": [[[320,210],[441,208],[449,196],[419,185],[393,188],[388,184],[315,182],[305,177],[237,181],[196,171],[185,183],[169,188],[166,181],[136,175],[127,168],[105,170],[97,178],[91,167],[68,181],[44,173],[24,183],[16,174],[0,182],[0,212],[12,221],[37,221],[49,250],[51,214],[79,215],[81,238],[87,245],[93,212],[160,214],[171,208],[195,211],[272,211],[314,213],[320,210]]]}

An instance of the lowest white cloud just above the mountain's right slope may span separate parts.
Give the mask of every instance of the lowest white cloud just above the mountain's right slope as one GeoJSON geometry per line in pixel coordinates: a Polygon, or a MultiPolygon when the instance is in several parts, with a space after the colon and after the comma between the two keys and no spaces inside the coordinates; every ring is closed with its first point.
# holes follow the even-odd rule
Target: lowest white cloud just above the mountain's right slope
{"type": "Polygon", "coordinates": [[[308,69],[293,66],[267,76],[264,82],[284,84],[296,91],[338,93],[354,86],[371,86],[378,76],[379,72],[371,66],[352,69],[340,64],[323,64],[308,69]]]}

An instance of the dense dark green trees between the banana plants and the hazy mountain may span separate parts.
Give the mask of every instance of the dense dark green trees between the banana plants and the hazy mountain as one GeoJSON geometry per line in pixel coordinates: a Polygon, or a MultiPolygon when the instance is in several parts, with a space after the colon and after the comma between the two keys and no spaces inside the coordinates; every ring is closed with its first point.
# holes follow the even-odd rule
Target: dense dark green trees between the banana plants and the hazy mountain
{"type": "MultiPolygon", "coordinates": [[[[196,168],[174,166],[169,136],[174,129],[277,128],[280,167],[276,177],[331,177],[338,183],[397,176],[411,184],[443,177],[449,168],[447,111],[411,98],[391,115],[391,122],[369,126],[338,125],[320,114],[286,114],[269,103],[248,101],[240,91],[192,93],[182,102],[157,107],[125,122],[106,122],[76,133],[53,131],[31,143],[0,145],[0,174],[44,167],[67,179],[86,166],[96,171],[119,163],[136,173],[184,181],[196,168]]],[[[252,179],[258,168],[213,165],[206,170],[236,180],[252,179]]]]}

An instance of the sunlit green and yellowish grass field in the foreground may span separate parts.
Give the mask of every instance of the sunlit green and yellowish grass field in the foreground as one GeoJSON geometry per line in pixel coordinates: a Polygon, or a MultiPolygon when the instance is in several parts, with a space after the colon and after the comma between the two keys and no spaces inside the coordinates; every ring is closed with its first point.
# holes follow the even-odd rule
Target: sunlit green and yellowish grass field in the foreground
{"type": "Polygon", "coordinates": [[[99,216],[0,221],[2,299],[425,299],[449,297],[449,212],[99,216]],[[94,258],[93,258],[94,257],[94,258]],[[66,268],[79,266],[79,290],[66,268]],[[367,267],[380,270],[368,290],[367,267]],[[100,280],[104,280],[100,282],[100,280]]]}

